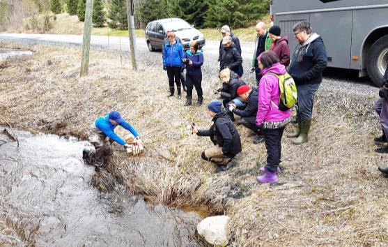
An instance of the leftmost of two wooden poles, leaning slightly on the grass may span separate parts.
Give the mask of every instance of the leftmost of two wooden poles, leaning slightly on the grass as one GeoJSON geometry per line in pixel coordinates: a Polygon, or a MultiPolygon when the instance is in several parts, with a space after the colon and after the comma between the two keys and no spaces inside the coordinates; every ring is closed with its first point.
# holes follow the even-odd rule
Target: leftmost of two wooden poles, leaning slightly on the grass
{"type": "Polygon", "coordinates": [[[89,70],[89,50],[91,48],[92,16],[93,0],[86,0],[84,39],[82,40],[81,76],[87,75],[89,70]]]}

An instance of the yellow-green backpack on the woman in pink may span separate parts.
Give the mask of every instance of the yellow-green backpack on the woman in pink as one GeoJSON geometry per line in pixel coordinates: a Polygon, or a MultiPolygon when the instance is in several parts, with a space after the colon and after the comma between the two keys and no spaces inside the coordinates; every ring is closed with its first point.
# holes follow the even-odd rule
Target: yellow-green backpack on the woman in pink
{"type": "Polygon", "coordinates": [[[286,112],[288,109],[292,108],[297,102],[297,90],[295,81],[288,73],[284,75],[277,75],[275,73],[269,72],[269,74],[275,75],[279,80],[279,110],[286,112]]]}

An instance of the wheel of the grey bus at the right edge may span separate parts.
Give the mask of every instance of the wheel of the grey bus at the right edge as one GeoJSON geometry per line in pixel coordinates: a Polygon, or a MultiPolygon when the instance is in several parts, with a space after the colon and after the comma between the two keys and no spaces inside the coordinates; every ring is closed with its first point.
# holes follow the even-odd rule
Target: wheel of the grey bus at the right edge
{"type": "Polygon", "coordinates": [[[373,83],[382,87],[382,76],[388,65],[388,35],[379,38],[368,52],[366,70],[373,83]]]}

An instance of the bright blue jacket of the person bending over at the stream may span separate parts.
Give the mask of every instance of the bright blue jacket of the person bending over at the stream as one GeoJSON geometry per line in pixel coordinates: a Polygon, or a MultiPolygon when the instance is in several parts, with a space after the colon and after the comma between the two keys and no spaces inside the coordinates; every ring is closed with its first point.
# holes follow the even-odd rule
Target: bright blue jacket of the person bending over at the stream
{"type": "MultiPolygon", "coordinates": [[[[120,123],[120,126],[125,128],[126,130],[130,130],[130,132],[132,133],[132,135],[134,135],[134,137],[139,136],[139,134],[130,125],[130,123],[123,121],[120,123]]],[[[121,139],[121,137],[119,137],[118,135],[116,135],[116,133],[114,133],[114,128],[116,128],[116,126],[113,123],[111,123],[111,121],[109,121],[108,115],[97,119],[95,121],[95,127],[97,127],[99,130],[102,131],[102,133],[104,133],[104,135],[111,138],[118,144],[124,145],[126,143],[123,139],[121,139]]]]}

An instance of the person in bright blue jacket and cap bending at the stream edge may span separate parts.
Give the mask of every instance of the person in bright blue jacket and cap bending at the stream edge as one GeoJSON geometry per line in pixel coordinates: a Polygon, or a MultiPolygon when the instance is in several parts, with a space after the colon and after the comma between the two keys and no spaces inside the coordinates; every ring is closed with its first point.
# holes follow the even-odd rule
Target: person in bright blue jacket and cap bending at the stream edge
{"type": "Polygon", "coordinates": [[[84,149],[82,152],[82,158],[85,163],[94,165],[96,172],[100,170],[100,167],[107,162],[107,157],[111,155],[111,147],[109,142],[117,142],[121,144],[125,149],[132,148],[132,145],[127,144],[121,137],[114,133],[116,126],[121,126],[126,130],[129,130],[136,138],[139,144],[142,144],[141,137],[137,131],[127,123],[119,112],[109,112],[104,117],[100,117],[95,120],[93,125],[88,128],[88,140],[93,144],[95,150],[84,149]],[[108,138],[109,137],[109,138],[108,138]]]}

